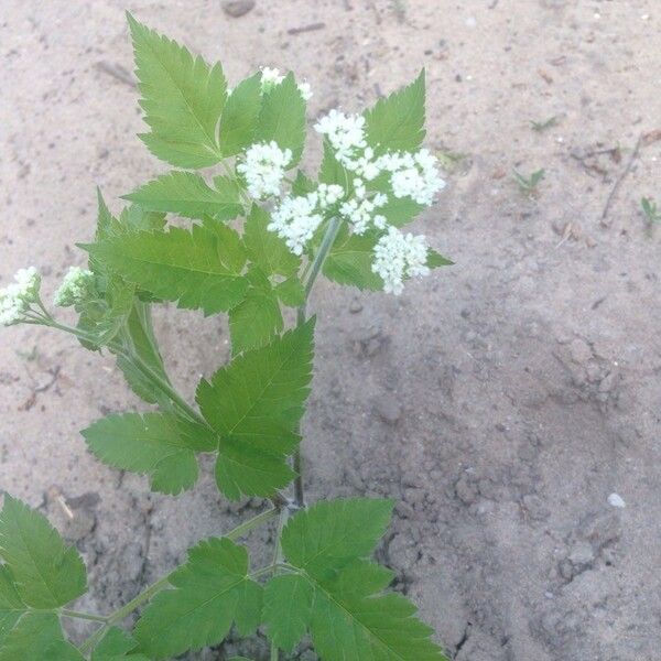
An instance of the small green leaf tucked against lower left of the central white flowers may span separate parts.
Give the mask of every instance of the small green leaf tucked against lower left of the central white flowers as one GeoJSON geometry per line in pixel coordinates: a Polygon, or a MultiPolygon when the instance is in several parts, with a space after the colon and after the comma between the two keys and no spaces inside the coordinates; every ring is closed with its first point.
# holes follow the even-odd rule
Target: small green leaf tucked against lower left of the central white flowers
{"type": "Polygon", "coordinates": [[[274,231],[267,229],[270,221],[266,209],[252,205],[243,228],[248,256],[267,275],[293,275],[301,268],[301,258],[274,231]]]}

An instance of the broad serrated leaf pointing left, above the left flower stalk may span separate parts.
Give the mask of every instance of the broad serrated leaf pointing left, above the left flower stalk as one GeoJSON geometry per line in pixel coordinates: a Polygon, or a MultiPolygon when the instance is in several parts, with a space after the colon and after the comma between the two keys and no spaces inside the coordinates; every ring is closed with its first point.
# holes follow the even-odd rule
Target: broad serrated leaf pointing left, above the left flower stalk
{"type": "Polygon", "coordinates": [[[129,282],[177,301],[180,307],[202,307],[208,315],[234,307],[248,289],[237,268],[245,261],[240,241],[234,230],[216,225],[213,229],[195,225],[192,230],[126,231],[85,248],[129,282]],[[235,241],[221,241],[227,235],[235,241]]]}

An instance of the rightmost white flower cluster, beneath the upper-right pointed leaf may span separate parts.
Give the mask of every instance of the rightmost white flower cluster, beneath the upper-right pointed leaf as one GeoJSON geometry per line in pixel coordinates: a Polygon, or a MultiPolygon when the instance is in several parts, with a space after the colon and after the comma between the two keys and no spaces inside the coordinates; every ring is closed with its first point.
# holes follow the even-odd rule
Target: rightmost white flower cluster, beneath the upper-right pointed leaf
{"type": "Polygon", "coordinates": [[[390,185],[395,197],[411,197],[418,204],[429,206],[445,186],[438,174],[437,159],[426,149],[415,154],[384,154],[379,159],[379,166],[391,173],[390,185]]]}

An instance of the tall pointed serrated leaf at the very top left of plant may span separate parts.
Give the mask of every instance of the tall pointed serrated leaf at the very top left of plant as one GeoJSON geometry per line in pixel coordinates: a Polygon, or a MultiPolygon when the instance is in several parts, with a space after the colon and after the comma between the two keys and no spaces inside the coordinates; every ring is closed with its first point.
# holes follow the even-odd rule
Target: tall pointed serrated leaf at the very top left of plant
{"type": "Polygon", "coordinates": [[[227,97],[220,64],[161,36],[128,14],[140,106],[151,132],[140,136],[159,159],[177,167],[207,167],[220,161],[217,126],[227,97]]]}

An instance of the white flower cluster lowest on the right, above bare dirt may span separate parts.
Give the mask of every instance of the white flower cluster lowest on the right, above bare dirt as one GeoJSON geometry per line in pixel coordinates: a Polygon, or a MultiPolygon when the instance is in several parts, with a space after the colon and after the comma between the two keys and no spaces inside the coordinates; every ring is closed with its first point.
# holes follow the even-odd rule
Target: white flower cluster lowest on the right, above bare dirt
{"type": "Polygon", "coordinates": [[[399,295],[404,278],[426,275],[429,246],[424,236],[414,237],[390,227],[375,246],[372,271],[383,280],[383,291],[399,295]]]}

